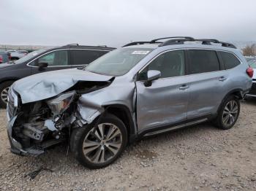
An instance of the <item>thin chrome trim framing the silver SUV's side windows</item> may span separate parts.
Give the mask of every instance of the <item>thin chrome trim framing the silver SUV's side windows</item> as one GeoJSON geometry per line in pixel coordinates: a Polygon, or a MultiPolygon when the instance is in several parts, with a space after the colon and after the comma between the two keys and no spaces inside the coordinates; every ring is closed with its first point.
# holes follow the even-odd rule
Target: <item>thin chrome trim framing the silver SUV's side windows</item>
{"type": "MultiPolygon", "coordinates": [[[[238,61],[240,61],[240,64],[243,63],[241,61],[240,58],[238,58],[238,56],[234,53],[234,52],[231,52],[231,51],[228,51],[228,50],[218,50],[218,49],[208,49],[208,48],[197,48],[197,47],[189,47],[189,48],[177,48],[177,49],[172,49],[172,50],[165,50],[163,52],[160,52],[159,54],[155,55],[154,58],[152,58],[150,61],[148,61],[148,63],[146,63],[145,66],[143,66],[143,68],[141,68],[139,71],[138,71],[138,75],[140,74],[141,71],[143,71],[143,69],[145,69],[151,62],[153,62],[155,59],[157,59],[160,55],[164,54],[165,52],[170,52],[170,51],[176,51],[176,50],[212,50],[212,51],[219,51],[219,52],[229,52],[233,55],[236,56],[236,58],[238,59],[238,61]]],[[[239,65],[240,65],[239,64],[239,65]]],[[[187,77],[187,76],[192,76],[192,75],[199,75],[199,74],[208,74],[208,73],[215,73],[215,72],[220,72],[220,71],[228,71],[230,69],[223,69],[223,70],[219,70],[219,71],[207,71],[207,72],[203,72],[203,73],[198,73],[198,74],[187,74],[187,75],[181,75],[181,76],[178,76],[178,77],[187,77]]],[[[159,79],[170,79],[170,78],[174,78],[174,77],[165,77],[165,78],[159,78],[159,79]]],[[[157,79],[157,80],[159,80],[157,79]]],[[[144,82],[145,80],[138,80],[137,82],[144,82]]]]}

